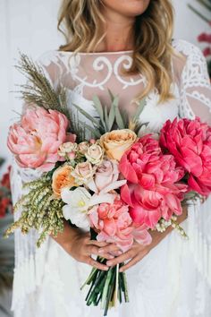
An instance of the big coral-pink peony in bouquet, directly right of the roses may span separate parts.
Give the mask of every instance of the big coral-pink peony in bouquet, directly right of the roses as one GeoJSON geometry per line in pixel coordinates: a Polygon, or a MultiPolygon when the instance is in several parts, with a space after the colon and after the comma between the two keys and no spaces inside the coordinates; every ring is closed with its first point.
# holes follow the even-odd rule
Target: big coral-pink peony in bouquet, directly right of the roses
{"type": "Polygon", "coordinates": [[[158,141],[149,134],[124,153],[119,165],[127,184],[121,198],[130,206],[133,221],[155,228],[160,218],[181,215],[181,200],[187,186],[178,181],[184,175],[172,155],[164,155],[158,141]]]}

